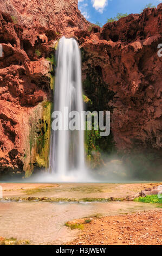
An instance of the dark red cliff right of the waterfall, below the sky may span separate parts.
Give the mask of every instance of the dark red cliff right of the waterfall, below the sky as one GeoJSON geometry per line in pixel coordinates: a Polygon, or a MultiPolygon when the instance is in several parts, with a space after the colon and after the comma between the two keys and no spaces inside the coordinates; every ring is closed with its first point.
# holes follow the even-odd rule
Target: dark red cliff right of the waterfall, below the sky
{"type": "Polygon", "coordinates": [[[162,4],[103,28],[79,31],[84,89],[95,110],[111,111],[118,150],[161,148],[162,4]]]}

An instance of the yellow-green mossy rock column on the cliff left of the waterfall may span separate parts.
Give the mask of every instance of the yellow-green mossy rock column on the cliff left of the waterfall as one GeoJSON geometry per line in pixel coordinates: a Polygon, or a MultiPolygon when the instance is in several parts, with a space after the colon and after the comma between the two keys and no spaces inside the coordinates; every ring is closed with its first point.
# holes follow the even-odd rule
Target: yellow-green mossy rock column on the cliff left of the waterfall
{"type": "Polygon", "coordinates": [[[25,148],[25,178],[29,177],[34,168],[48,168],[51,131],[51,111],[53,103],[43,101],[32,111],[29,118],[29,135],[25,148]]]}

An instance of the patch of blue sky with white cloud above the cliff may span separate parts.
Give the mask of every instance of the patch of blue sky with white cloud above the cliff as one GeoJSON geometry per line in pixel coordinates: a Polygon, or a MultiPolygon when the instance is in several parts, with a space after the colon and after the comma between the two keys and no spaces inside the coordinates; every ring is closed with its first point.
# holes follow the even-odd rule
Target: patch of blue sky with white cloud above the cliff
{"type": "Polygon", "coordinates": [[[157,6],[162,0],[78,0],[78,7],[86,19],[104,25],[118,13],[140,13],[146,4],[157,6]]]}

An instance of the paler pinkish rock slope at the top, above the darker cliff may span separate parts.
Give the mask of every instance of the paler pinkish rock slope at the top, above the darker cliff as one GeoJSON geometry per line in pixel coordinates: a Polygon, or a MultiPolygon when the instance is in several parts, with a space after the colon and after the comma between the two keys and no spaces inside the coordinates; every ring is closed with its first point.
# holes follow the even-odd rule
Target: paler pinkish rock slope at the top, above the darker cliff
{"type": "Polygon", "coordinates": [[[73,35],[86,29],[88,21],[77,8],[77,0],[0,0],[1,11],[27,28],[48,28],[50,34],[73,35]]]}

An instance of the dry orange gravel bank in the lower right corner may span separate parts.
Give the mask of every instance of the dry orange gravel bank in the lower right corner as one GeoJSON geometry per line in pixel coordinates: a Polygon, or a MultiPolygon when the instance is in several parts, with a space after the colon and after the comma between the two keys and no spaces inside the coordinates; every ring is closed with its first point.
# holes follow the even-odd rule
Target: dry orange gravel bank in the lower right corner
{"type": "Polygon", "coordinates": [[[161,245],[161,213],[148,211],[93,218],[68,245],[161,245]]]}

